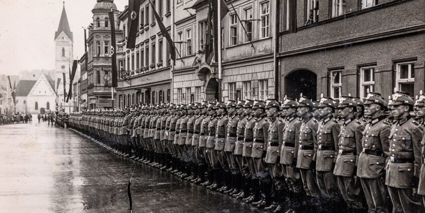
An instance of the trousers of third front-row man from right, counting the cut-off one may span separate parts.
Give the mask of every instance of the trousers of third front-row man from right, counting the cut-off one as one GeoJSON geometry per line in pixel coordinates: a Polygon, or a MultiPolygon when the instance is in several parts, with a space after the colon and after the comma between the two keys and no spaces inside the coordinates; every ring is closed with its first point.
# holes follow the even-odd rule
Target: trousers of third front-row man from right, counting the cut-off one
{"type": "Polygon", "coordinates": [[[360,178],[369,212],[388,212],[387,191],[382,178],[360,178]]]}

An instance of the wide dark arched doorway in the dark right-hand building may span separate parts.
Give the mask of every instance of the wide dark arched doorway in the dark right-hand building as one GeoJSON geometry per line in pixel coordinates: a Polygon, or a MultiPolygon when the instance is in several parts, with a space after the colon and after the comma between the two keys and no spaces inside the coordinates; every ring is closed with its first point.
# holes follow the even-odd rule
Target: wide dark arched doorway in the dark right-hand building
{"type": "Polygon", "coordinates": [[[289,98],[299,98],[300,93],[316,100],[317,75],[306,69],[298,69],[285,77],[285,95],[289,98]]]}

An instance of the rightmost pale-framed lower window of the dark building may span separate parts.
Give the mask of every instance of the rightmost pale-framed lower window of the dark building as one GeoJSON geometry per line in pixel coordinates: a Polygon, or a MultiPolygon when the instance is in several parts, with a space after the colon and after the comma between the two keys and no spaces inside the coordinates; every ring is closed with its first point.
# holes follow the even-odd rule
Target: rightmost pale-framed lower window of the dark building
{"type": "Polygon", "coordinates": [[[414,94],[415,69],[413,62],[396,64],[396,84],[399,91],[414,94]]]}

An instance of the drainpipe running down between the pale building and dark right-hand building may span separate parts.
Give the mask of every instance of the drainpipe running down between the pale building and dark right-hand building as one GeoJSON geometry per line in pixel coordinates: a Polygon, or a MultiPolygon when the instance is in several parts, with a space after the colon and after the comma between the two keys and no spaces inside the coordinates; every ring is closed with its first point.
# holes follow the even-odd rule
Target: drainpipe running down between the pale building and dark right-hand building
{"type": "Polygon", "coordinates": [[[279,70],[277,68],[278,62],[277,62],[277,49],[279,44],[279,39],[277,37],[278,27],[279,27],[279,19],[277,18],[277,14],[279,14],[279,1],[274,0],[276,11],[273,14],[273,18],[275,20],[275,26],[273,28],[273,42],[274,42],[274,48],[273,48],[273,72],[274,72],[274,99],[276,101],[279,101],[280,99],[280,92],[279,92],[279,70]]]}

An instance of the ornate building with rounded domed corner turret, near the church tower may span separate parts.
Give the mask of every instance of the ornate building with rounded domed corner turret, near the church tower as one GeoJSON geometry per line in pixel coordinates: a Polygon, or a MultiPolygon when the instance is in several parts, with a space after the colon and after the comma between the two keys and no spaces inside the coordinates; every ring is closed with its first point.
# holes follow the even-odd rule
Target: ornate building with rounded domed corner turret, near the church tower
{"type": "MultiPolygon", "coordinates": [[[[110,80],[105,81],[105,75],[111,75],[111,35],[108,12],[114,11],[115,20],[118,18],[118,10],[114,0],[97,0],[94,6],[93,23],[89,26],[88,45],[88,108],[112,108],[110,80]]],[[[118,21],[115,22],[118,29],[118,21]]],[[[120,31],[117,30],[117,40],[121,39],[120,31]]],[[[110,78],[109,78],[110,79],[110,78]]]]}

